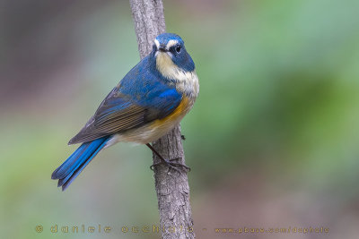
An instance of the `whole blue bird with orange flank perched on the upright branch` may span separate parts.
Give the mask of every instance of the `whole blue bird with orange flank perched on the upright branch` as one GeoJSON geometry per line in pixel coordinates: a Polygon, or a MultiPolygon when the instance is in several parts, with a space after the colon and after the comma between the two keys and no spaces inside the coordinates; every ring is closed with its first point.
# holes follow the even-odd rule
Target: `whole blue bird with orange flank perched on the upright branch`
{"type": "MultiPolygon", "coordinates": [[[[101,149],[119,141],[147,145],[169,132],[193,107],[199,91],[195,64],[180,36],[163,33],[145,56],[103,99],[95,114],[68,144],[82,143],[52,173],[62,190],[74,181],[101,149]]],[[[155,165],[153,165],[155,166],[155,165]]],[[[187,166],[184,166],[188,168],[187,166]]]]}

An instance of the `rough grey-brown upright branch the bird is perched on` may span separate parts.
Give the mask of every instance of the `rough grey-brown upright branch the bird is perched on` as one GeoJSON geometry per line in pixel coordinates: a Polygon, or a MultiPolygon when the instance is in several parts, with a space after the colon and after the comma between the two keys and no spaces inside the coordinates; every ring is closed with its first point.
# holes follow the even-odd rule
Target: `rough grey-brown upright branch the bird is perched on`
{"type": "MultiPolygon", "coordinates": [[[[132,16],[135,22],[138,50],[141,59],[148,55],[157,35],[165,32],[162,0],[130,0],[132,16]]],[[[181,141],[180,125],[160,140],[153,142],[163,158],[179,158],[177,162],[185,164],[181,141]]],[[[153,154],[153,163],[160,161],[153,154]]],[[[162,238],[195,238],[192,213],[189,205],[189,186],[187,173],[179,174],[168,170],[167,166],[154,168],[154,182],[157,192],[162,238]],[[164,230],[163,230],[164,228],[164,230]]]]}

